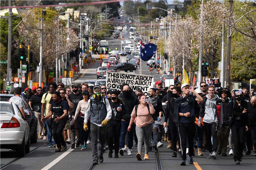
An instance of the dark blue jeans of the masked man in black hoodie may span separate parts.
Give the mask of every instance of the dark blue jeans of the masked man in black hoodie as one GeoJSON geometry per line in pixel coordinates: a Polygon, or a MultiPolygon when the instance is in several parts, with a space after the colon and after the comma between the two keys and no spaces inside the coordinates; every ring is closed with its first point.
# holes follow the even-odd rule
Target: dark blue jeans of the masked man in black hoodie
{"type": "MultiPolygon", "coordinates": [[[[121,121],[121,132],[120,132],[120,138],[119,138],[119,149],[124,148],[125,135],[126,135],[129,123],[130,122],[127,122],[127,121],[121,121]]],[[[128,131],[128,142],[127,142],[128,149],[132,149],[132,145],[133,145],[133,130],[134,130],[134,128],[135,128],[135,125],[133,123],[130,132],[128,131]]]]}

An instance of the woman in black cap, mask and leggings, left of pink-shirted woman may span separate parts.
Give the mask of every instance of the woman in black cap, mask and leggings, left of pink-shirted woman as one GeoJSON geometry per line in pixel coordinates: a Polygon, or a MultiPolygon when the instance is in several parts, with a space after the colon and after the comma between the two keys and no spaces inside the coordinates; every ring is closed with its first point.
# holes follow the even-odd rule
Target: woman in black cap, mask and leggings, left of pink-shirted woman
{"type": "Polygon", "coordinates": [[[113,91],[111,93],[111,100],[109,101],[112,109],[112,116],[107,124],[109,158],[112,158],[113,149],[115,149],[115,158],[118,158],[121,120],[122,115],[126,114],[124,102],[122,99],[118,98],[118,94],[119,92],[117,90],[113,91]],[[115,148],[113,148],[113,139],[115,142],[115,148]]]}

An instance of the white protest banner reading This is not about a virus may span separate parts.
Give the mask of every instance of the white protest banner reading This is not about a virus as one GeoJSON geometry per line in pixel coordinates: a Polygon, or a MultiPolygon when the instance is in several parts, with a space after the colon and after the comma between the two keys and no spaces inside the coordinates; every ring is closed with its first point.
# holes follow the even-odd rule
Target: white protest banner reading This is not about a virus
{"type": "Polygon", "coordinates": [[[120,90],[118,88],[127,83],[134,92],[141,89],[148,96],[149,89],[154,85],[153,82],[154,76],[107,71],[106,86],[108,90],[120,90]]]}

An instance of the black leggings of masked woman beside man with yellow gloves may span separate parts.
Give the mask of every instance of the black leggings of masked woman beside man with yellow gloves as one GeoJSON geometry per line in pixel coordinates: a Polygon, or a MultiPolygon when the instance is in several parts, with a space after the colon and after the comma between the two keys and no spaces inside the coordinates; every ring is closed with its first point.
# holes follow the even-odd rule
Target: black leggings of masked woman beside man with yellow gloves
{"type": "Polygon", "coordinates": [[[111,124],[108,123],[107,125],[107,133],[108,133],[108,147],[109,152],[113,153],[113,149],[115,149],[115,154],[119,152],[119,137],[121,131],[121,122],[120,124],[111,124]],[[115,148],[113,148],[113,139],[115,142],[115,148]]]}

